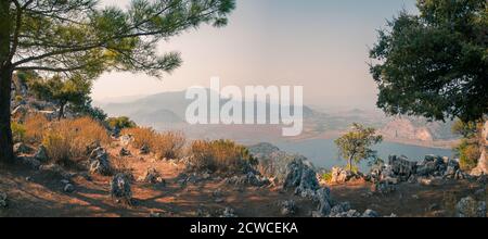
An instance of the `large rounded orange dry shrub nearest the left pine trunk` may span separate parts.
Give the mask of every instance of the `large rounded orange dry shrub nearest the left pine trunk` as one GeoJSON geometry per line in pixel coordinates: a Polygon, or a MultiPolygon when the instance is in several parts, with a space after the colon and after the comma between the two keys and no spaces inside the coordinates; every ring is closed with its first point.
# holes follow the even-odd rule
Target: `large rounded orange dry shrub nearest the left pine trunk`
{"type": "Polygon", "coordinates": [[[87,147],[110,143],[105,128],[90,117],[53,123],[44,134],[42,144],[51,160],[66,164],[86,156],[87,147]]]}

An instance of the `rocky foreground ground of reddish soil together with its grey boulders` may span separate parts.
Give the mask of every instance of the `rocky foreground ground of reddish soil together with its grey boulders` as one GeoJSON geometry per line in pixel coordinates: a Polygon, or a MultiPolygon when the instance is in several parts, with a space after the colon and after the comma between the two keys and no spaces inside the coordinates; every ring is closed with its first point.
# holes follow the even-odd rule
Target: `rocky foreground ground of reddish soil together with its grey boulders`
{"type": "Polygon", "coordinates": [[[394,180],[395,173],[386,171],[390,174],[388,190],[380,190],[378,184],[385,180],[371,180],[371,175],[319,185],[305,159],[274,148],[254,150],[262,152],[260,162],[268,165],[261,168],[265,175],[282,172],[282,177],[192,174],[185,171],[184,161],[156,161],[139,149],[123,150],[117,141],[106,155],[93,150],[89,172],[18,160],[0,167],[0,216],[440,217],[466,211],[486,216],[484,177],[433,177],[427,184],[421,179],[402,181],[401,177],[394,180]],[[130,172],[130,202],[120,200],[125,197],[124,178],[98,172],[103,163],[93,163],[93,159],[103,161],[104,156],[130,172]]]}

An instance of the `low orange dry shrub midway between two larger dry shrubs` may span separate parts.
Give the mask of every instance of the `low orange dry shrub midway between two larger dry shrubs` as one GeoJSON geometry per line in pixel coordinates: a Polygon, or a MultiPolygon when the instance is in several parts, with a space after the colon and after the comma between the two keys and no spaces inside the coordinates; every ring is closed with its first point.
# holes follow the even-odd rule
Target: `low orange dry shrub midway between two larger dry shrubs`
{"type": "Polygon", "coordinates": [[[152,128],[125,128],[121,135],[133,137],[132,146],[141,148],[146,146],[159,160],[178,159],[181,156],[187,139],[180,131],[156,133],[152,128]]]}

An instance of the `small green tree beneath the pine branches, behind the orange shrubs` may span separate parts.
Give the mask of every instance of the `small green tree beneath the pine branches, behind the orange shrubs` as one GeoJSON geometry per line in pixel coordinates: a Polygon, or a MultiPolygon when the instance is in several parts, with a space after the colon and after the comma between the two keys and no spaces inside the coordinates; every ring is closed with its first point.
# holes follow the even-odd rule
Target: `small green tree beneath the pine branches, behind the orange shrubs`
{"type": "Polygon", "coordinates": [[[48,79],[31,80],[29,89],[37,98],[55,102],[60,110],[57,120],[61,120],[66,104],[84,105],[90,99],[91,83],[79,75],[67,79],[55,75],[48,79]]]}

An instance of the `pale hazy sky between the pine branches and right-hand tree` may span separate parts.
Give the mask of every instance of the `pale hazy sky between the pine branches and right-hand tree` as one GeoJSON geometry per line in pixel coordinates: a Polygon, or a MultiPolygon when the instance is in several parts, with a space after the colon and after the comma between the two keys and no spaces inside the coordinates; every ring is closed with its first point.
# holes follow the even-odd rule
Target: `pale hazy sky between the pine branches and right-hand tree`
{"type": "MultiPolygon", "coordinates": [[[[129,0],[102,0],[126,5],[129,0]]],[[[376,88],[367,65],[368,47],[401,9],[414,0],[237,0],[224,28],[201,27],[169,42],[160,52],[180,51],[183,65],[158,80],[111,73],[95,84],[95,100],[222,85],[300,85],[305,103],[343,100],[373,104],[376,88]]],[[[344,102],[343,102],[344,103],[344,102]]]]}

